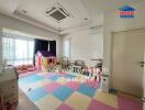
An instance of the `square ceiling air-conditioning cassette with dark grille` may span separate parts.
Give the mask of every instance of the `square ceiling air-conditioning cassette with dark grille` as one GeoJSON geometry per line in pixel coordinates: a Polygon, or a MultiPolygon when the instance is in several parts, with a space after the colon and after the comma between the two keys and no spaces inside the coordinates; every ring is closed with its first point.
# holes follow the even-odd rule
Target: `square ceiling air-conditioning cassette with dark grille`
{"type": "Polygon", "coordinates": [[[65,10],[58,2],[45,11],[46,16],[53,18],[57,22],[62,22],[66,18],[70,18],[71,14],[65,10]]]}

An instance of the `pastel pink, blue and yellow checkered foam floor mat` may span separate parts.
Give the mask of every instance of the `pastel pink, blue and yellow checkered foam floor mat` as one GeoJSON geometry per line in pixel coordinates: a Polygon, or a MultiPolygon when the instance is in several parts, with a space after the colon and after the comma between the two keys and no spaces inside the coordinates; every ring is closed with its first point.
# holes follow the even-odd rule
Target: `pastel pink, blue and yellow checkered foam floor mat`
{"type": "Polygon", "coordinates": [[[143,110],[140,101],[102,92],[99,82],[75,81],[81,75],[36,73],[19,79],[19,87],[40,110],[143,110]]]}

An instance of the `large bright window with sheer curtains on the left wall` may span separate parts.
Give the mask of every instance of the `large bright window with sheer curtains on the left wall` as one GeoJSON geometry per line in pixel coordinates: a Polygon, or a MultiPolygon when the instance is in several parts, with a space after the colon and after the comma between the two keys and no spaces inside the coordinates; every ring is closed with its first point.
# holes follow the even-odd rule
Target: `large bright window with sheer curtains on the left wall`
{"type": "Polygon", "coordinates": [[[3,34],[3,58],[8,65],[33,64],[34,41],[3,34]]]}

